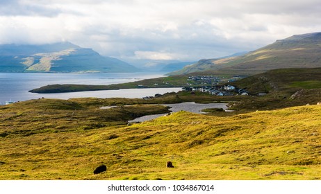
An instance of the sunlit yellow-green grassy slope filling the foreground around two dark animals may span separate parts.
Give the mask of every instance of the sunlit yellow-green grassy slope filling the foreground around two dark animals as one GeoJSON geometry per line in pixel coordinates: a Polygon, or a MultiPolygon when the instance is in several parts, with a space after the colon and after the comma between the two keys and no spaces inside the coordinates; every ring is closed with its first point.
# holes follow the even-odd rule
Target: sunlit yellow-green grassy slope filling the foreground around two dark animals
{"type": "Polygon", "coordinates": [[[117,119],[149,108],[122,114],[97,108],[122,100],[85,101],[1,107],[0,179],[321,179],[321,106],[126,126],[117,119]],[[99,164],[108,170],[94,175],[99,164]]]}

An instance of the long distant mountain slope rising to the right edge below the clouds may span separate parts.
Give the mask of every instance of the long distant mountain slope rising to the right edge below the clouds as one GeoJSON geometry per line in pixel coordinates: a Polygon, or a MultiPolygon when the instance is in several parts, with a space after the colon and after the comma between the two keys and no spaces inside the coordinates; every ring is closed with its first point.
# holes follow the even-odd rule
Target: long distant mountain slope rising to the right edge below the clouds
{"type": "Polygon", "coordinates": [[[321,67],[321,33],[308,33],[277,40],[245,55],[199,60],[170,75],[201,71],[254,75],[271,69],[317,67],[321,67]]]}

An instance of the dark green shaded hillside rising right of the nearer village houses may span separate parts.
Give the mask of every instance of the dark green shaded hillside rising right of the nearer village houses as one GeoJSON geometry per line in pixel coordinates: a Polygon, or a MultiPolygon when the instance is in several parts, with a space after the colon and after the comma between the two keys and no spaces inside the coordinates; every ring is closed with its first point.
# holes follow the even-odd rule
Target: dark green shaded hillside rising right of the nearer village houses
{"type": "Polygon", "coordinates": [[[275,69],[233,82],[252,95],[243,98],[233,109],[279,109],[297,105],[316,104],[321,98],[321,69],[275,69]]]}

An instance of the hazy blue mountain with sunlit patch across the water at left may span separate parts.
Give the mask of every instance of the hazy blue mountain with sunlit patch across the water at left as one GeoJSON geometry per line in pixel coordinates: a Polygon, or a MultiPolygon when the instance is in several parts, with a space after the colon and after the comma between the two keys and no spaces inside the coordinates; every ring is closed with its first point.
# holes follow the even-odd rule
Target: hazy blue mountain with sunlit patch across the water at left
{"type": "Polygon", "coordinates": [[[140,69],[70,42],[0,45],[0,72],[135,72],[140,69]]]}

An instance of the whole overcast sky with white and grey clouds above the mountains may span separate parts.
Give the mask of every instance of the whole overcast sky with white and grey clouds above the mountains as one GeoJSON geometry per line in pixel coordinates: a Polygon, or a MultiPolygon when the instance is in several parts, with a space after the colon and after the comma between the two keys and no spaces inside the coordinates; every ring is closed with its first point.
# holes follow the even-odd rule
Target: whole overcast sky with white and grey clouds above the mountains
{"type": "Polygon", "coordinates": [[[0,0],[0,44],[69,41],[122,60],[199,60],[321,31],[320,0],[0,0]]]}

